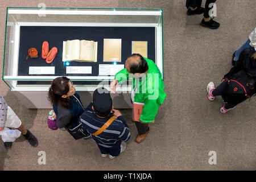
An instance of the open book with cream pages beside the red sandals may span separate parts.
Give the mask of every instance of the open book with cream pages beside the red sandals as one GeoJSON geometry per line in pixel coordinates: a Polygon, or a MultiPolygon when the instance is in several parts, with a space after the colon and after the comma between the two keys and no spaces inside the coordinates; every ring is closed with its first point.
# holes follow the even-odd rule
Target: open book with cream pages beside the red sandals
{"type": "Polygon", "coordinates": [[[62,61],[97,62],[98,43],[89,40],[63,41],[62,61]]]}

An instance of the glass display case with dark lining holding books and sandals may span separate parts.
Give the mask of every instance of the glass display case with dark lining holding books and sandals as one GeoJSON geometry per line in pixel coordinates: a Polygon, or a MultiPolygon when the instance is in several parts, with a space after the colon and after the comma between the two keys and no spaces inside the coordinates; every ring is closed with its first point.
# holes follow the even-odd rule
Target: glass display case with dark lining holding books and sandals
{"type": "MultiPolygon", "coordinates": [[[[162,15],[162,9],[7,7],[2,79],[28,108],[49,108],[46,97],[54,78],[67,76],[77,92],[91,99],[89,95],[98,86],[110,89],[115,73],[125,68],[127,57],[139,53],[135,48],[146,48],[143,56],[155,61],[163,75],[162,15]],[[77,46],[71,40],[76,40],[77,46]],[[65,59],[93,52],[82,49],[83,40],[97,43],[93,50],[96,59],[65,59]],[[114,49],[113,40],[118,42],[114,49]],[[51,63],[42,56],[45,41],[49,51],[57,48],[51,63]],[[37,57],[31,55],[31,48],[36,49],[37,57]],[[118,59],[107,60],[109,53],[118,59]]],[[[123,95],[130,90],[131,82],[117,88],[123,95]]],[[[114,105],[129,107],[122,104],[122,100],[130,100],[126,97],[114,100],[114,105]]]]}

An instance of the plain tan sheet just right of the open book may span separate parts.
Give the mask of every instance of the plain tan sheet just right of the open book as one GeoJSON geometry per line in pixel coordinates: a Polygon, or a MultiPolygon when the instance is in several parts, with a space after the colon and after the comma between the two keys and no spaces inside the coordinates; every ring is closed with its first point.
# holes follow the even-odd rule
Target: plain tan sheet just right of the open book
{"type": "Polygon", "coordinates": [[[104,62],[121,62],[122,39],[104,39],[104,62]]]}

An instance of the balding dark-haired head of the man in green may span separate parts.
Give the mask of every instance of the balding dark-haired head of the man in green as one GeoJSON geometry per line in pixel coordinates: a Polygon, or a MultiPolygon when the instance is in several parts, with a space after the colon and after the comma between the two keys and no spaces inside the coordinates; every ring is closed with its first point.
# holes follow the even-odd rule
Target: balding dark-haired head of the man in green
{"type": "Polygon", "coordinates": [[[142,57],[142,55],[138,53],[134,53],[133,55],[129,56],[127,59],[131,59],[131,57],[138,56],[138,61],[133,61],[130,63],[129,69],[130,73],[144,73],[148,70],[147,61],[142,57]]]}

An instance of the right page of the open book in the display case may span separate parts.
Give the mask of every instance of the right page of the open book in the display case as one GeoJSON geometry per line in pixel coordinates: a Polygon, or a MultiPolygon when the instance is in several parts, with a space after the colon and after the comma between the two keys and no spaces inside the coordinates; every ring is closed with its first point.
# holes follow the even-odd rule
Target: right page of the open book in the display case
{"type": "Polygon", "coordinates": [[[80,61],[92,61],[96,62],[95,57],[97,42],[89,40],[80,41],[80,61]]]}

